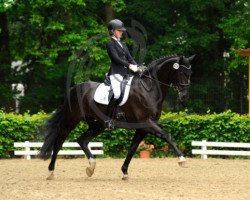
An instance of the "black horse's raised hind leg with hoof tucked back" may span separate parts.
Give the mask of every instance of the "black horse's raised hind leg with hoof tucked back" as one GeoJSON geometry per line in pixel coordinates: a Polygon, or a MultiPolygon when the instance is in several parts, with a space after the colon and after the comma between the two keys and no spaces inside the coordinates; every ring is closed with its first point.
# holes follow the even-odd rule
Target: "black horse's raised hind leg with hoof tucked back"
{"type": "Polygon", "coordinates": [[[87,158],[89,159],[90,166],[86,168],[86,174],[88,177],[91,177],[95,171],[96,161],[88,148],[88,144],[94,137],[101,133],[101,131],[103,130],[103,125],[97,121],[91,121],[88,122],[88,124],[88,130],[86,131],[86,133],[84,133],[77,139],[77,142],[81,146],[87,158]]]}

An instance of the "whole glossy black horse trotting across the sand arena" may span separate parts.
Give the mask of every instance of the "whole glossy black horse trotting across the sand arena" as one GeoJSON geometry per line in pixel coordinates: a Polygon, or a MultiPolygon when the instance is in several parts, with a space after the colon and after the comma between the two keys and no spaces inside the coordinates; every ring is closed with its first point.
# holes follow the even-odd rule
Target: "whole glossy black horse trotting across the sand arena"
{"type": "MultiPolygon", "coordinates": [[[[179,157],[179,165],[183,166],[185,158],[182,152],[172,141],[169,134],[162,130],[157,124],[162,110],[162,104],[169,86],[178,90],[178,98],[184,101],[188,97],[190,85],[191,56],[165,56],[149,64],[147,69],[140,75],[133,78],[130,94],[127,102],[118,110],[126,116],[126,122],[117,121],[117,128],[136,129],[127,157],[122,166],[123,179],[128,178],[129,163],[146,134],[153,134],[159,137],[173,148],[179,157]]],[[[88,143],[105,128],[104,122],[106,105],[94,102],[93,97],[97,82],[84,82],[72,87],[65,96],[64,102],[60,105],[52,117],[47,121],[45,142],[39,152],[42,159],[48,159],[53,151],[49,164],[50,175],[53,179],[56,157],[69,133],[80,121],[88,124],[88,130],[82,134],[77,142],[89,159],[90,167],[86,173],[90,177],[94,173],[95,159],[91,154],[88,143]]],[[[117,111],[118,112],[118,111],[117,111]]]]}

